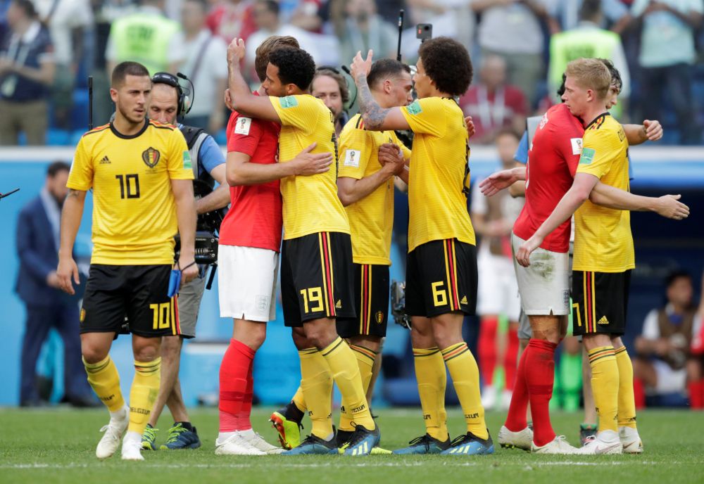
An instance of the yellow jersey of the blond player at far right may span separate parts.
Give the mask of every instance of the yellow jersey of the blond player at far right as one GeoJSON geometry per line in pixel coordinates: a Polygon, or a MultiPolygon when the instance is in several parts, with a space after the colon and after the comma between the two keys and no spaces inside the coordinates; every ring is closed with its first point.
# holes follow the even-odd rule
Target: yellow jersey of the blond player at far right
{"type": "MultiPolygon", "coordinates": [[[[584,131],[577,173],[589,173],[603,184],[629,191],[628,140],[609,113],[584,131]]],[[[600,207],[586,200],[574,212],[576,271],[624,272],[636,267],[631,236],[631,212],[600,207]]]]}

